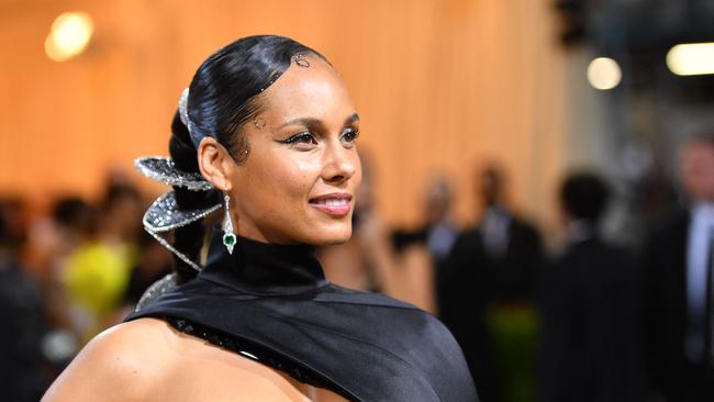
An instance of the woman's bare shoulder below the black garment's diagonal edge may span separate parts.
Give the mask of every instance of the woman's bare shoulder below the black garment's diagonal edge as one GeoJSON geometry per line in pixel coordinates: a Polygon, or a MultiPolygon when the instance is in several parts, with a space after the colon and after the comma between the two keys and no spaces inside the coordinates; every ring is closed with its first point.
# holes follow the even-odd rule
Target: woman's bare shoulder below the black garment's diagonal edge
{"type": "Polygon", "coordinates": [[[303,401],[280,373],[156,319],[94,337],[43,401],[303,401]]]}

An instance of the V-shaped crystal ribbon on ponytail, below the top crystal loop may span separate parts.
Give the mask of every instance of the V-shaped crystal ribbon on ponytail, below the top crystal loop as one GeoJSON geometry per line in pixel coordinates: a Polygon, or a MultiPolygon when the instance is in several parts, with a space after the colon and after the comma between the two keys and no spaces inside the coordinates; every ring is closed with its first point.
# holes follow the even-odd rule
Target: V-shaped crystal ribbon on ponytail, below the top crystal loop
{"type": "Polygon", "coordinates": [[[179,257],[183,263],[197,271],[200,271],[202,269],[200,265],[196,264],[186,254],[179,252],[176,247],[174,247],[171,243],[161,237],[160,233],[165,233],[177,227],[182,227],[193,222],[200,221],[220,208],[221,203],[219,202],[215,205],[204,209],[181,211],[178,208],[178,203],[176,201],[176,193],[174,191],[170,191],[156,199],[152,206],[146,210],[143,220],[144,230],[154,238],[156,238],[156,241],[164,247],[168,248],[171,253],[179,257]]]}

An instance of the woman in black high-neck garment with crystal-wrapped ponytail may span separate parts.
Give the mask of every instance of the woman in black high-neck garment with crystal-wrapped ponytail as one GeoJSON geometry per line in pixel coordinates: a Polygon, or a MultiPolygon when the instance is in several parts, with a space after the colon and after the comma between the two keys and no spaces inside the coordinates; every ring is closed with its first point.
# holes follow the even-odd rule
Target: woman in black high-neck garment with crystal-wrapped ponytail
{"type": "Polygon", "coordinates": [[[160,295],[94,338],[45,400],[478,400],[437,320],[331,284],[315,258],[352,233],[358,125],[338,74],[299,43],[252,36],[209,57],[179,102],[171,160],[138,163],[175,189],[144,224],[177,255],[178,286],[149,289],[160,295]],[[172,244],[158,236],[172,228],[172,244]]]}

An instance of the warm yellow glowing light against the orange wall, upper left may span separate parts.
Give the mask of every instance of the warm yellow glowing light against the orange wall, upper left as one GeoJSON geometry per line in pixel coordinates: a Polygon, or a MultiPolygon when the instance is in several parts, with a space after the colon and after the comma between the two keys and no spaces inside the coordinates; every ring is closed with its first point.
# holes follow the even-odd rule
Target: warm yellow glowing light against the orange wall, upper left
{"type": "Polygon", "coordinates": [[[55,62],[68,60],[87,48],[94,31],[86,12],[65,12],[57,16],[45,40],[45,53],[55,62]]]}

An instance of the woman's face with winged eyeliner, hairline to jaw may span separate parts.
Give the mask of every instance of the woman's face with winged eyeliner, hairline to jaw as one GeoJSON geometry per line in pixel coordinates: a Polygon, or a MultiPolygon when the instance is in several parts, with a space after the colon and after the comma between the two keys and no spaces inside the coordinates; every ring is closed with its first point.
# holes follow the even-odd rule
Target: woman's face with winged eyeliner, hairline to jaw
{"type": "Polygon", "coordinates": [[[263,111],[242,127],[249,154],[228,177],[233,224],[269,243],[346,242],[361,181],[359,118],[332,67],[313,55],[299,62],[265,90],[263,111]]]}

